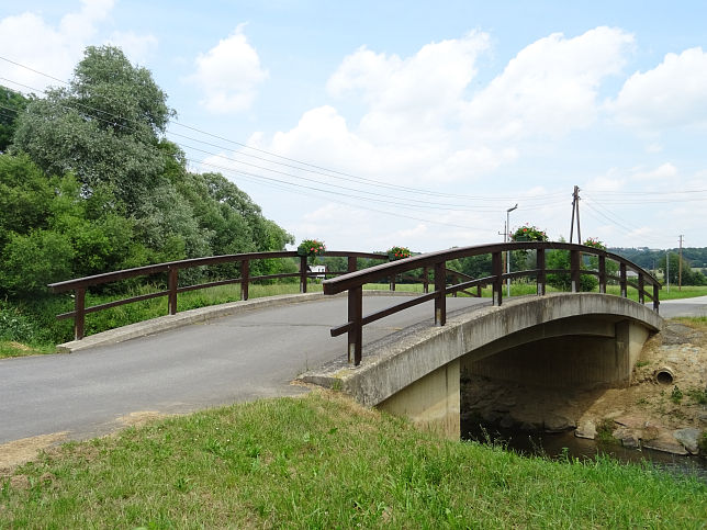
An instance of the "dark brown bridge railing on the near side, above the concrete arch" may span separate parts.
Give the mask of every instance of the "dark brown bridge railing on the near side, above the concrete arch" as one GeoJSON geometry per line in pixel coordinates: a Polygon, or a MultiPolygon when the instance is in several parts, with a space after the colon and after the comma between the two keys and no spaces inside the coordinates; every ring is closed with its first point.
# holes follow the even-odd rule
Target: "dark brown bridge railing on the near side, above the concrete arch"
{"type": "MultiPolygon", "coordinates": [[[[546,294],[546,285],[548,282],[548,274],[570,274],[570,285],[572,292],[581,290],[581,278],[585,274],[595,275],[598,278],[599,293],[606,294],[606,285],[609,280],[615,280],[619,284],[620,296],[628,296],[628,286],[632,286],[638,291],[638,301],[643,304],[646,297],[653,301],[653,309],[659,309],[659,290],[661,287],[659,281],[651,275],[648,271],[639,266],[613,252],[603,249],[586,247],[584,245],[573,245],[568,243],[505,243],[494,245],[482,245],[474,247],[461,247],[450,250],[440,250],[437,252],[429,252],[424,255],[414,256],[404,260],[393,261],[379,266],[363,269],[361,271],[351,272],[336,279],[325,280],[323,283],[325,294],[338,294],[348,291],[348,322],[332,329],[332,336],[337,337],[343,334],[348,334],[348,356],[349,362],[354,360],[354,364],[358,365],[361,362],[362,351],[362,328],[367,324],[379,320],[383,317],[393,315],[401,311],[407,309],[415,305],[435,301],[435,325],[444,326],[447,320],[447,306],[446,296],[448,294],[456,294],[460,291],[470,287],[481,289],[482,285],[492,285],[493,304],[501,305],[503,302],[503,286],[507,279],[515,278],[535,278],[537,284],[537,294],[546,294]],[[535,250],[536,251],[536,268],[510,273],[504,272],[503,253],[506,251],[516,250],[535,250]],[[570,252],[570,268],[569,269],[548,269],[546,267],[546,252],[548,250],[563,250],[570,252]],[[478,279],[464,279],[456,284],[448,285],[447,278],[449,278],[449,270],[446,263],[451,260],[468,258],[473,256],[491,255],[491,275],[478,279]],[[582,256],[590,255],[598,258],[597,270],[583,269],[582,256]],[[609,274],[607,272],[606,260],[613,260],[618,263],[618,275],[609,274]],[[379,281],[381,278],[394,278],[405,272],[424,269],[434,271],[434,291],[429,292],[425,289],[425,293],[412,300],[393,305],[382,311],[371,313],[363,316],[363,298],[362,287],[366,283],[379,281]],[[628,272],[633,271],[637,281],[628,280],[628,272]],[[649,291],[647,286],[652,289],[649,291]]],[[[425,273],[425,277],[427,274],[425,273]]]]}

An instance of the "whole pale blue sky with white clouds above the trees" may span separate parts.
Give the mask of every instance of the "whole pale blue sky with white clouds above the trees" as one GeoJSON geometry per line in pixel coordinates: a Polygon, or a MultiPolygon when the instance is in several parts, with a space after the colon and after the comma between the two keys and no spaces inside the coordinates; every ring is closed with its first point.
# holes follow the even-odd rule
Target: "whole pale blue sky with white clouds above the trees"
{"type": "Polygon", "coordinates": [[[0,83],[148,68],[192,171],[332,250],[707,246],[707,3],[0,2],[0,83]],[[507,212],[517,204],[517,208],[507,212]],[[576,240],[576,228],[574,240],[576,240]]]}

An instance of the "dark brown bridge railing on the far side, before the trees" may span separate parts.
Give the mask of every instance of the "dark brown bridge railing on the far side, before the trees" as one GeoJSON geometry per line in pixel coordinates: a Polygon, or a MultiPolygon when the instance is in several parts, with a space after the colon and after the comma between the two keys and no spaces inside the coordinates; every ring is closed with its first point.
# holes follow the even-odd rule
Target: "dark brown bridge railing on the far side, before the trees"
{"type": "MultiPolygon", "coordinates": [[[[170,261],[166,263],[157,263],[145,267],[136,267],[134,269],[125,269],[115,272],[106,272],[103,274],[96,274],[86,278],[78,278],[75,280],[67,280],[64,282],[50,283],[48,285],[49,290],[53,293],[63,293],[68,291],[74,291],[75,296],[75,308],[71,312],[63,313],[57,315],[58,319],[74,318],[74,337],[77,340],[83,338],[85,328],[86,328],[86,315],[90,313],[96,313],[103,309],[109,309],[111,307],[116,307],[124,304],[131,304],[135,302],[141,302],[145,300],[156,298],[159,296],[167,296],[167,306],[170,315],[177,314],[177,296],[179,293],[184,293],[187,291],[195,291],[200,289],[215,287],[218,285],[228,285],[228,284],[240,284],[240,300],[248,300],[248,287],[254,282],[263,281],[263,280],[277,280],[284,278],[298,278],[300,281],[300,292],[307,292],[307,279],[321,278],[322,275],[332,277],[338,274],[350,273],[357,270],[357,260],[361,259],[374,259],[374,260],[388,260],[388,255],[384,253],[373,253],[373,252],[351,252],[351,251],[337,251],[328,250],[323,252],[324,257],[338,257],[347,258],[347,270],[346,271],[328,271],[328,272],[313,272],[307,270],[307,257],[300,256],[296,251],[278,251],[278,252],[250,252],[250,253],[235,253],[226,256],[213,256],[209,258],[194,258],[187,259],[181,261],[170,261]],[[250,263],[255,260],[263,259],[295,259],[300,262],[300,270],[298,272],[283,272],[279,274],[266,274],[266,275],[250,275],[250,263]],[[239,264],[238,278],[212,281],[207,283],[200,283],[197,285],[183,285],[179,286],[179,272],[187,269],[193,269],[197,267],[207,267],[216,266],[224,263],[236,263],[239,264]],[[114,283],[122,280],[130,280],[141,277],[149,277],[153,274],[167,274],[167,289],[164,291],[158,291],[149,294],[142,294],[138,296],[131,296],[127,298],[115,300],[104,304],[94,305],[91,307],[86,307],[86,293],[90,287],[97,285],[102,285],[106,283],[114,283]]],[[[391,289],[395,289],[394,278],[391,281],[391,289]]]]}

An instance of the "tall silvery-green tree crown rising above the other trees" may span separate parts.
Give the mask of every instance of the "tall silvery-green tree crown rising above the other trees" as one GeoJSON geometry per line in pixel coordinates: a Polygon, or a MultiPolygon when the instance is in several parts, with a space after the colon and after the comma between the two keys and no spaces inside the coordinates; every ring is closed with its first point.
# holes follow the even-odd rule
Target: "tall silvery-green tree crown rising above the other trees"
{"type": "Polygon", "coordinates": [[[48,174],[72,172],[87,194],[112,187],[132,213],[160,184],[160,135],[172,113],[149,70],[120,48],[90,46],[68,87],[29,103],[14,148],[48,174]]]}

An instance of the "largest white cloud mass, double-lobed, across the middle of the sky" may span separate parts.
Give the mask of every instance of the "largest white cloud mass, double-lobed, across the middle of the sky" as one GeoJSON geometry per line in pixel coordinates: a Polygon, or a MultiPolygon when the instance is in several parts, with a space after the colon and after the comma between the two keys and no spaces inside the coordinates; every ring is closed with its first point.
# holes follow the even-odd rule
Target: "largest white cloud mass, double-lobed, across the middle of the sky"
{"type": "Polygon", "coordinates": [[[408,57],[361,47],[345,57],[328,93],[363,105],[347,123],[330,105],[258,147],[322,166],[406,185],[470,182],[523,157],[527,142],[592,124],[602,81],[620,72],[633,37],[597,27],[566,38],[541,38],[472,93],[487,34],[423,46],[408,57]],[[525,143],[525,144],[524,144],[525,143]]]}

